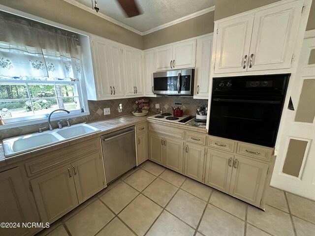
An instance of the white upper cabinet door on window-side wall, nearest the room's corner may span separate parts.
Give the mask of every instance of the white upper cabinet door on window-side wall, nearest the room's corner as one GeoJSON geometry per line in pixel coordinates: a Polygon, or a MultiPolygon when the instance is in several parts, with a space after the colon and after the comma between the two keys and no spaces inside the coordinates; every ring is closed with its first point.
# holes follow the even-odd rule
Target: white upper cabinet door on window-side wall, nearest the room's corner
{"type": "Polygon", "coordinates": [[[142,51],[133,50],[132,53],[133,82],[136,88],[136,95],[143,94],[143,59],[142,51]]]}

